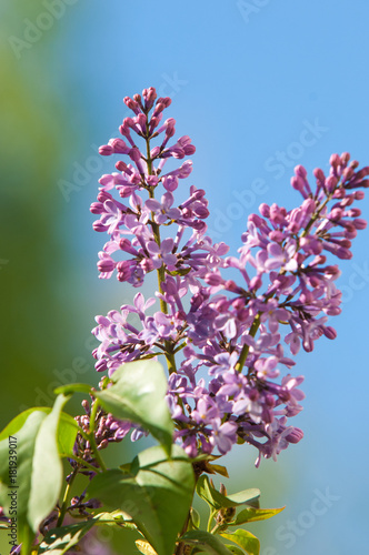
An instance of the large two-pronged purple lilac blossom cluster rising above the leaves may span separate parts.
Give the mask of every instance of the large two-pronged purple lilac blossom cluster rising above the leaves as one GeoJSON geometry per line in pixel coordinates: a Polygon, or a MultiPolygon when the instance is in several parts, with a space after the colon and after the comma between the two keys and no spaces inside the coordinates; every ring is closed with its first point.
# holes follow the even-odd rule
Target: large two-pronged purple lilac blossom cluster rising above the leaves
{"type": "Polygon", "coordinates": [[[301,411],[302,376],[288,373],[279,380],[281,367],[295,365],[289,354],[301,345],[310,352],[320,336],[336,337],[328,316],[340,313],[341,293],[332,256],[350,259],[351,241],[366,228],[352,204],[369,186],[369,168],[358,170],[348,153],[333,154],[328,175],[315,170],[311,186],[298,165],[291,185],[302,195],[301,204],[290,211],[261,204],[260,214],[248,219],[238,256],[229,256],[228,245],[213,244],[206,234],[203,190],[190,186],[188,199],[176,205],[173,193],[190,174],[191,162],[163,173],[170,158],[195,152],[187,135],[169,144],[176,122],[162,123],[162,114],[170,99],[157,99],[151,88],[124,102],[134,114],[120,127],[124,140],[100,148],[102,155],[129,160],[118,161],[118,172],[100,179],[91,206],[99,215],[94,230],[109,235],[98,269],[101,278],[116,272],[134,287],[156,270],[159,286],[156,299],[146,301],[138,293],[133,305],[97,316],[96,369],[111,375],[126,362],[164,355],[176,438],[190,456],[215,448],[225,454],[247,442],[259,450],[258,462],[261,456],[276,460],[302,437],[289,424],[301,411]],[[159,188],[164,190],[160,200],[159,188]],[[114,191],[128,202],[116,200],[114,191]],[[227,269],[238,272],[238,283],[226,278],[227,269]],[[160,309],[148,312],[157,301],[160,309]]]}

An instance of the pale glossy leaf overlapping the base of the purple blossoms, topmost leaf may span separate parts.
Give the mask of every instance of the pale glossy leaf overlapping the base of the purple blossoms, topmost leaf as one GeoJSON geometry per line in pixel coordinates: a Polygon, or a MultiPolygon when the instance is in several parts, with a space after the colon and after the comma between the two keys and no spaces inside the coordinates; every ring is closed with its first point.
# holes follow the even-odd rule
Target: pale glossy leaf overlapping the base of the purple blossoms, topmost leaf
{"type": "Polygon", "coordinates": [[[102,407],[148,430],[170,454],[173,422],[164,398],[168,383],[161,364],[129,362],[116,370],[111,380],[111,387],[92,392],[102,407]]]}

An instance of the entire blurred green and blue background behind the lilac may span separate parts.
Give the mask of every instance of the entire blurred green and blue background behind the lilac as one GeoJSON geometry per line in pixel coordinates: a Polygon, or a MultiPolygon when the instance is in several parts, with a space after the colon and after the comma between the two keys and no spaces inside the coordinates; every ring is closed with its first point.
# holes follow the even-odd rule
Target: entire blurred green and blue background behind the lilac
{"type": "MultiPolygon", "coordinates": [[[[51,404],[60,383],[97,383],[93,317],[131,299],[98,280],[103,238],[89,213],[112,169],[97,148],[118,137],[123,97],[150,85],[172,97],[167,117],[197,145],[184,185],[207,190],[210,233],[236,251],[261,202],[300,202],[296,164],[327,169],[346,150],[369,163],[368,27],[366,0],[1,0],[1,427],[51,404]]],[[[368,216],[368,199],[361,208],[368,216]]],[[[298,356],[305,440],[259,470],[252,448],[226,458],[229,491],[258,486],[263,506],[287,505],[252,528],[262,555],[367,546],[368,233],[341,264],[338,339],[298,356]]]]}

